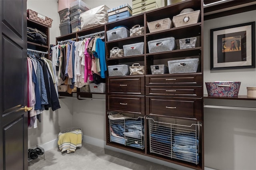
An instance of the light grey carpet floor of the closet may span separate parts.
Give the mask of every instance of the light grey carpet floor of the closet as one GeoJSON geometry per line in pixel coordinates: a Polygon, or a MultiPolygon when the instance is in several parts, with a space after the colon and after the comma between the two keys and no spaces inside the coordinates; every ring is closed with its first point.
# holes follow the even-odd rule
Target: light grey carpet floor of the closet
{"type": "Polygon", "coordinates": [[[54,148],[44,157],[28,162],[28,170],[175,170],[86,143],[76,152],[67,154],[54,148]]]}

